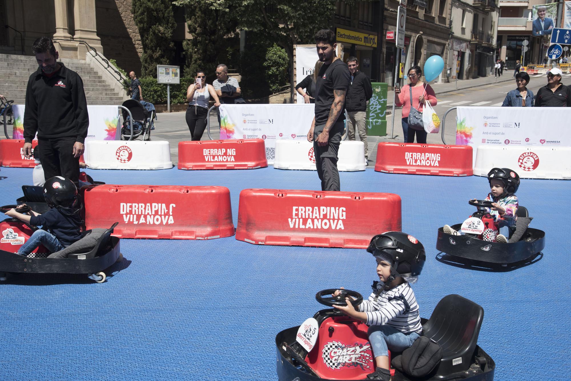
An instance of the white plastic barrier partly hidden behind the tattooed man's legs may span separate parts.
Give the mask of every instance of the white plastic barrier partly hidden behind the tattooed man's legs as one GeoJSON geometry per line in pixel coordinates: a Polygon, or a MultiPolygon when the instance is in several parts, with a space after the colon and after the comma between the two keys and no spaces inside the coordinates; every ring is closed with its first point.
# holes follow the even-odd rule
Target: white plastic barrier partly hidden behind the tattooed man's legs
{"type": "MultiPolygon", "coordinates": [[[[365,170],[365,144],[362,141],[341,141],[337,157],[339,171],[365,170]]],[[[316,171],[313,143],[307,140],[276,140],[274,168],[316,171]]]]}

